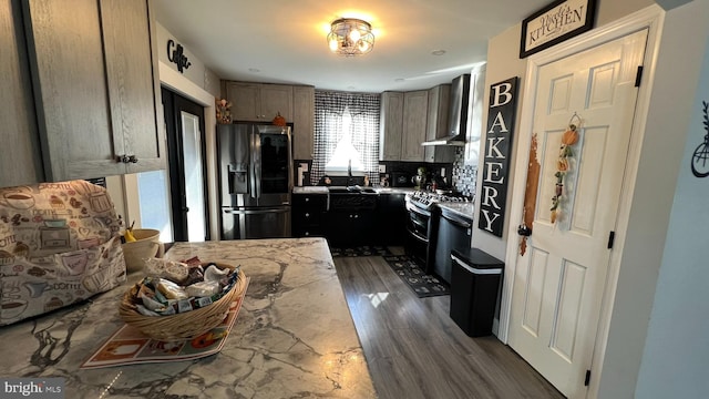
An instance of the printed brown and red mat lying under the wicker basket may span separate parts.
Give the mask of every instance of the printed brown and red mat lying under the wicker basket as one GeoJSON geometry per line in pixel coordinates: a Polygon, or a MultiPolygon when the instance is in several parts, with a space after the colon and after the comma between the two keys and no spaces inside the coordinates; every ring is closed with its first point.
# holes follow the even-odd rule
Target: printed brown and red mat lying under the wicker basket
{"type": "Polygon", "coordinates": [[[224,321],[210,331],[191,340],[163,342],[151,339],[137,329],[124,324],[80,368],[184,361],[217,354],[224,347],[242,308],[250,280],[249,277],[246,278],[244,293],[234,299],[224,321]]]}

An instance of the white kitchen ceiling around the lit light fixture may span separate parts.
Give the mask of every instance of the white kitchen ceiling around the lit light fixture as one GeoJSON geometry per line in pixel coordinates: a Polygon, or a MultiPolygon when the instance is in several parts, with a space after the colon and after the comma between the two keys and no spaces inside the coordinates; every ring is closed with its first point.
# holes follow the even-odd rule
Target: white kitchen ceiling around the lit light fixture
{"type": "Polygon", "coordinates": [[[551,2],[154,0],[157,21],[222,79],[357,92],[449,83],[485,62],[490,38],[551,2]],[[330,52],[329,23],[341,17],[372,24],[370,53],[330,52]]]}

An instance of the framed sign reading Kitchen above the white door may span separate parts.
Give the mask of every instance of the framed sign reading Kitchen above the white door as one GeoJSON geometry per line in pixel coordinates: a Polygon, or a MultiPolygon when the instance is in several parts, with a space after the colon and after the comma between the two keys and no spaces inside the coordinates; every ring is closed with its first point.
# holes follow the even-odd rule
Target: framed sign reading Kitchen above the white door
{"type": "Polygon", "coordinates": [[[597,0],[557,0],[522,21],[523,59],[590,30],[597,0]]]}

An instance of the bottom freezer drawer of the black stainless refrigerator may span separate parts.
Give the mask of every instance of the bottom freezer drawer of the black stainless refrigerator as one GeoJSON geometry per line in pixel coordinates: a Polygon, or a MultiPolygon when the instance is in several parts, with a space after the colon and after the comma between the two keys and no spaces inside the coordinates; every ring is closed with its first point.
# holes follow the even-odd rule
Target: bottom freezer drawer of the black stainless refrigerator
{"type": "Polygon", "coordinates": [[[222,239],[285,237],[290,237],[290,206],[222,209],[222,239]]]}

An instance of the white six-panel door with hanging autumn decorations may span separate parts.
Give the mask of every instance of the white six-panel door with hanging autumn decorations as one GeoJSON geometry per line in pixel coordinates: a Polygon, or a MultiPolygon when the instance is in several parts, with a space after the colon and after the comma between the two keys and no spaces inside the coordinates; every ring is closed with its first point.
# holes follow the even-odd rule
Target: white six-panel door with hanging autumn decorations
{"type": "Polygon", "coordinates": [[[536,76],[541,172],[533,234],[516,260],[510,346],[569,398],[586,396],[646,41],[639,31],[542,65],[536,76]],[[553,221],[569,123],[579,141],[553,221]]]}

